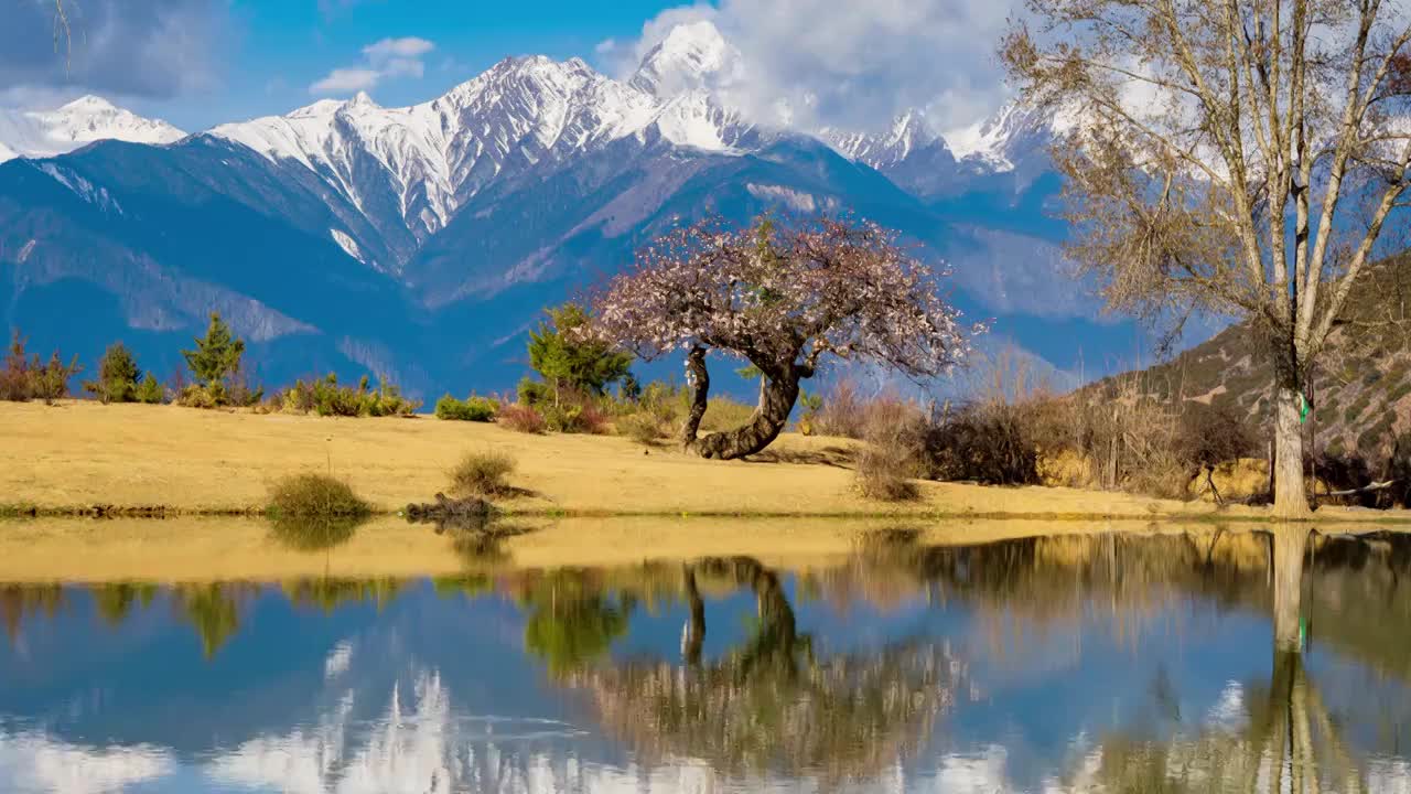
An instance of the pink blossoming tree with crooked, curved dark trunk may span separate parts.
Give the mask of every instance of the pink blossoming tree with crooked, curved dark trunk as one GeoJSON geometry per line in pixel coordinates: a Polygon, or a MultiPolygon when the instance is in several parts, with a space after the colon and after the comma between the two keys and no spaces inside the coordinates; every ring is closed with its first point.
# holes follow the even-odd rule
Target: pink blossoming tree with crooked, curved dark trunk
{"type": "Polygon", "coordinates": [[[959,311],[937,278],[873,223],[817,219],[729,229],[704,220],[638,253],[593,301],[591,333],[645,360],[686,350],[691,408],[682,444],[732,459],[772,442],[799,384],[828,357],[937,376],[967,353],[959,311]],[[710,393],[707,350],[762,374],[759,405],[737,429],[698,435],[710,393]]]}

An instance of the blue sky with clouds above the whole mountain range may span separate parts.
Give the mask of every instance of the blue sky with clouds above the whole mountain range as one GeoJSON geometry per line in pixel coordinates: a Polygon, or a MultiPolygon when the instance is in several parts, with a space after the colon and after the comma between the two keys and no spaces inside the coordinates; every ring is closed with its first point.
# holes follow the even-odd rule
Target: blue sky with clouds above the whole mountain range
{"type": "Polygon", "coordinates": [[[621,76],[673,25],[706,20],[735,49],[748,79],[732,100],[756,120],[875,130],[923,109],[944,133],[1003,100],[995,45],[1017,0],[63,0],[66,57],[54,1],[0,3],[0,107],[97,93],[196,131],[349,96],[323,86],[350,78],[402,106],[508,55],[621,76]],[[779,107],[787,117],[769,117],[779,107]]]}

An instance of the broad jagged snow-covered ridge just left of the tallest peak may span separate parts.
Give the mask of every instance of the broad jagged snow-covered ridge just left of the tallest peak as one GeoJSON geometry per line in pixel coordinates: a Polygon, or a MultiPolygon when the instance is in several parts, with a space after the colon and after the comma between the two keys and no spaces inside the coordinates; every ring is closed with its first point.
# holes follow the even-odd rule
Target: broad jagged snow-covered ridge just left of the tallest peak
{"type": "Polygon", "coordinates": [[[387,246],[333,230],[354,259],[399,271],[419,243],[498,182],[560,168],[631,138],[731,153],[748,124],[700,95],[667,100],[593,71],[581,59],[507,58],[446,95],[380,107],[365,93],[322,100],[286,116],[222,124],[210,136],[243,144],[279,167],[317,175],[382,235],[387,246]],[[401,229],[388,227],[395,219],[401,229]],[[363,244],[358,244],[361,242],[363,244]],[[387,257],[377,256],[385,251],[387,257]]]}

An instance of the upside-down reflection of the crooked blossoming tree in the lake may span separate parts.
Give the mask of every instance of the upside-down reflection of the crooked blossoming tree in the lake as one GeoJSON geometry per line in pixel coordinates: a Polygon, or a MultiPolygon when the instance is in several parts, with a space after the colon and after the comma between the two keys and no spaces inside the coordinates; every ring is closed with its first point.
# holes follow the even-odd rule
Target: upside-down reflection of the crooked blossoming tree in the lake
{"type": "Polygon", "coordinates": [[[818,658],[779,576],[753,559],[690,564],[682,586],[690,609],[682,664],[638,660],[567,678],[593,692],[602,725],[646,760],[689,756],[724,773],[782,767],[827,781],[865,777],[924,742],[952,701],[959,667],[937,647],[818,658]],[[758,622],[720,660],[701,658],[698,576],[725,578],[755,596],[758,622]]]}

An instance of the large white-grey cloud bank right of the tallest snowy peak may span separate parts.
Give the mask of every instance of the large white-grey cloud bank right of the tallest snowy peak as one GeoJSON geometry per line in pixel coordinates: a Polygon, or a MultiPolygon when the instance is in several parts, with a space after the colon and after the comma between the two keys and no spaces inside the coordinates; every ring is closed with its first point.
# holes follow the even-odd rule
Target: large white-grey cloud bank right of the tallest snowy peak
{"type": "Polygon", "coordinates": [[[920,107],[944,130],[1003,103],[995,47],[1020,13],[1015,0],[721,0],[662,11],[600,58],[629,73],[674,25],[708,20],[742,59],[727,99],[761,122],[878,130],[920,107]]]}

